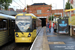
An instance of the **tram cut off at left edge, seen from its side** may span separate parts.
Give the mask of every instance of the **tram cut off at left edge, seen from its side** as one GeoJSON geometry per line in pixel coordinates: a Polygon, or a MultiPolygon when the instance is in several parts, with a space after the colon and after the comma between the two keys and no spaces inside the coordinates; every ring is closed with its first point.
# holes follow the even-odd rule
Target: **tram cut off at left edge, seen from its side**
{"type": "Polygon", "coordinates": [[[0,46],[14,39],[15,17],[0,14],[0,46]]]}

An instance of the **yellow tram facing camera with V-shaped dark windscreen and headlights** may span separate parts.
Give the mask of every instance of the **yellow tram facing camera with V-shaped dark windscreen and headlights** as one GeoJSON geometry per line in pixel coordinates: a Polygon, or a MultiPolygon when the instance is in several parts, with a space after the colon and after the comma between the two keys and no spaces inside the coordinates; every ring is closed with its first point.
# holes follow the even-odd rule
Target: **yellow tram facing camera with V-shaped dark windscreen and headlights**
{"type": "Polygon", "coordinates": [[[15,43],[31,43],[36,37],[36,17],[18,14],[15,20],[15,43]]]}

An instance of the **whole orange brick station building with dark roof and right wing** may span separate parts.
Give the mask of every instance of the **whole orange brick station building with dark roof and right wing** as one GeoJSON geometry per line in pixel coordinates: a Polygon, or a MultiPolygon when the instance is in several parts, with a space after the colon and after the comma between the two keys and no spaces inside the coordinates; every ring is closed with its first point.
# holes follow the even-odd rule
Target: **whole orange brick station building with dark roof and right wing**
{"type": "Polygon", "coordinates": [[[52,10],[52,6],[45,3],[34,3],[32,5],[28,5],[27,12],[33,13],[38,18],[46,18],[46,22],[48,21],[48,17],[55,13],[63,16],[63,9],[52,10]]]}

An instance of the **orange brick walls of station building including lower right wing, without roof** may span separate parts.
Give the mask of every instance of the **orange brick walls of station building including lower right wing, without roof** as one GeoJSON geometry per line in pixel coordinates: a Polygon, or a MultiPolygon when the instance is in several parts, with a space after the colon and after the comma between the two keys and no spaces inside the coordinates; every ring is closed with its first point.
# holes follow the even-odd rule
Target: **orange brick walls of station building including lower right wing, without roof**
{"type": "Polygon", "coordinates": [[[57,10],[52,10],[51,5],[33,5],[33,6],[27,6],[27,12],[33,13],[34,15],[38,17],[46,17],[54,13],[62,13],[63,16],[63,9],[57,9],[57,10]],[[37,10],[41,10],[41,14],[37,14],[37,10]]]}

